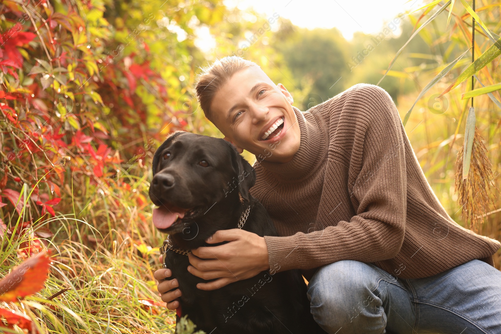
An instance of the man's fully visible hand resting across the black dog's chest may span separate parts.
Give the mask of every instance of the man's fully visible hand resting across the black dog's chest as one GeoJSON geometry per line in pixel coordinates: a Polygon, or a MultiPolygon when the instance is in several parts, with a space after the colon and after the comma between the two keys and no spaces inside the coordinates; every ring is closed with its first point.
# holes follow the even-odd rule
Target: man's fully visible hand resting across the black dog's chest
{"type": "MultiPolygon", "coordinates": [[[[191,265],[188,271],[203,279],[215,279],[198,283],[201,290],[214,290],[238,280],[254,277],[270,269],[268,247],[265,238],[238,228],[216,231],[207,243],[228,243],[213,247],[198,247],[188,255],[191,265]]],[[[163,296],[162,296],[163,297],[163,296]]]]}

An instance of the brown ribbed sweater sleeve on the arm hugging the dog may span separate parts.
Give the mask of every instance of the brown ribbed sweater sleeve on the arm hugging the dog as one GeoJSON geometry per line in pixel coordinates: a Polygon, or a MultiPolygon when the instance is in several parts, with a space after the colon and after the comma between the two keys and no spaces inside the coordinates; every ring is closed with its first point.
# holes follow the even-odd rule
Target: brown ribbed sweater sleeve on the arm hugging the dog
{"type": "MultiPolygon", "coordinates": [[[[326,221],[323,226],[329,226],[323,230],[265,236],[273,270],[311,269],[348,259],[375,262],[400,251],[407,180],[405,133],[397,108],[384,89],[363,85],[346,99],[344,109],[353,115],[347,118],[353,124],[346,124],[354,129],[347,189],[356,215],[349,221],[326,221]]],[[[333,168],[332,161],[326,168],[333,168]]],[[[326,179],[324,188],[328,186],[326,179]]]]}

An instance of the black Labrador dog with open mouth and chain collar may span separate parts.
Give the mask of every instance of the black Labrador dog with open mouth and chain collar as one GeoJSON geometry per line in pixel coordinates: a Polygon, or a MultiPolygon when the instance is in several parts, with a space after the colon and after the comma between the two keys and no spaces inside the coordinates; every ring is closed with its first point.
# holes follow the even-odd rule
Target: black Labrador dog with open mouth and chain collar
{"type": "Polygon", "coordinates": [[[187,270],[189,250],[217,245],[204,241],[217,230],[278,236],[265,207],[248,192],[256,172],[231,143],[176,131],[155,152],[152,170],[149,197],[158,206],[153,223],[169,234],[165,267],[179,282],[182,314],[197,329],[211,334],[325,333],[310,312],[299,270],[270,269],[211,291],[198,289],[196,284],[206,280],[187,270]]]}

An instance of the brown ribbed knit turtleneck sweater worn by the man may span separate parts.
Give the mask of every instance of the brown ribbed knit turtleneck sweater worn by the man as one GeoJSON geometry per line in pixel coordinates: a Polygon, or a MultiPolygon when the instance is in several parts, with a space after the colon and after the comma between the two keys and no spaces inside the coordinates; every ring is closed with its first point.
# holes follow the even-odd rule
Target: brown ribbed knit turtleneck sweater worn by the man
{"type": "Polygon", "coordinates": [[[310,279],[319,266],[350,259],[419,278],[471,259],[492,265],[500,243],[445,212],[384,89],[357,84],[294,111],[299,151],[283,164],[258,157],[250,189],[280,235],[265,236],[271,269],[303,269],[310,279]]]}

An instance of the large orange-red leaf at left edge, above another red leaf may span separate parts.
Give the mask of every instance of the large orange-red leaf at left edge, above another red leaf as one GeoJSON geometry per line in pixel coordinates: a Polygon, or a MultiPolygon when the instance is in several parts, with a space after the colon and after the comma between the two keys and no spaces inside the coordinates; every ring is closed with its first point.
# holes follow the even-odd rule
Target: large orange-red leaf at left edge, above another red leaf
{"type": "Polygon", "coordinates": [[[44,287],[51,264],[50,252],[40,252],[16,266],[0,281],[0,301],[17,301],[44,287]]]}

